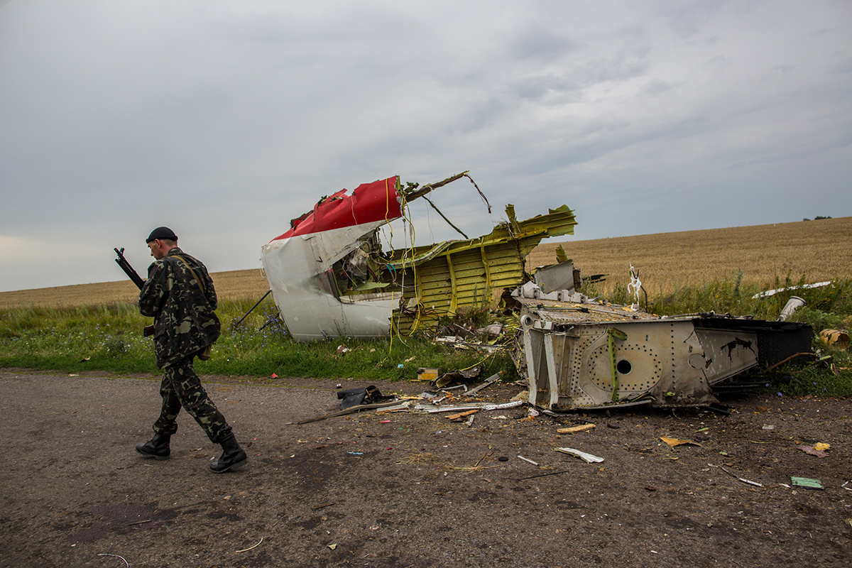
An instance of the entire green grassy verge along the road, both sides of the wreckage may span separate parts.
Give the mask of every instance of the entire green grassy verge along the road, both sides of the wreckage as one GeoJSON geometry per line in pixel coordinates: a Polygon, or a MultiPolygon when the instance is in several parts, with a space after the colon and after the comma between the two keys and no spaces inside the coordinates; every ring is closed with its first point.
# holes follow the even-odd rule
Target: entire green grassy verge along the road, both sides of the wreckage
{"type": "MultiPolygon", "coordinates": [[[[778,280],[776,288],[803,282],[778,280]]],[[[648,311],[659,315],[682,313],[733,313],[774,320],[791,295],[807,301],[790,318],[811,324],[815,332],[826,328],[852,327],[852,281],[837,280],[831,286],[788,290],[765,298],[737,276],[712,281],[698,287],[676,287],[674,293],[649,294],[648,311]]],[[[596,295],[591,287],[589,295],[596,295]]],[[[630,304],[632,295],[616,287],[608,299],[630,304]]],[[[475,364],[491,375],[504,371],[516,378],[509,353],[485,356],[435,344],[424,337],[394,337],[372,341],[331,339],[302,343],[293,341],[280,321],[274,318],[272,301],[264,301],[242,324],[236,321],[253,301],[222,301],[218,310],[222,337],[214,347],[213,358],[197,362],[200,373],[230,376],[305,376],[317,378],[355,377],[363,380],[412,380],[417,367],[438,367],[442,371],[465,369],[475,364]],[[272,323],[269,323],[272,322],[272,323]],[[347,353],[338,353],[345,345],[347,353]]],[[[640,298],[642,307],[646,297],[640,298]]],[[[40,308],[0,310],[0,367],[60,370],[107,370],[117,373],[157,373],[150,338],[141,329],[150,323],[132,304],[99,307],[40,308]]],[[[827,358],[807,367],[782,367],[767,374],[770,388],[792,396],[852,396],[852,357],[849,351],[828,347],[815,336],[814,349],[827,358]]]]}

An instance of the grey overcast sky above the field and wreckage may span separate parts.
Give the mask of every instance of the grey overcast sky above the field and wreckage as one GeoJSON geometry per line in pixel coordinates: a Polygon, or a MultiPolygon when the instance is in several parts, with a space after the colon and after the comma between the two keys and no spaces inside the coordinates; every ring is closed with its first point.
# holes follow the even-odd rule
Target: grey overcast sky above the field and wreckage
{"type": "Polygon", "coordinates": [[[0,291],[123,279],[113,247],[144,276],[159,225],[260,267],[390,175],[469,169],[492,215],[432,196],[469,236],[509,203],[576,239],[852,215],[850,96],[847,0],[0,0],[0,291]]]}

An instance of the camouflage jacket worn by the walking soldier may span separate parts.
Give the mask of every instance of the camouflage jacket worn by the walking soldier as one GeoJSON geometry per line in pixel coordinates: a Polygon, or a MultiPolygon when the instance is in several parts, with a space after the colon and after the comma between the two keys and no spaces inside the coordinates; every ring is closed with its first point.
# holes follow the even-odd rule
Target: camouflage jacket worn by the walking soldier
{"type": "Polygon", "coordinates": [[[148,267],[148,279],[139,292],[139,311],[154,318],[154,354],[159,369],[218,339],[216,304],[216,290],[207,268],[177,247],[148,267]],[[200,278],[200,286],[195,278],[200,278]]]}

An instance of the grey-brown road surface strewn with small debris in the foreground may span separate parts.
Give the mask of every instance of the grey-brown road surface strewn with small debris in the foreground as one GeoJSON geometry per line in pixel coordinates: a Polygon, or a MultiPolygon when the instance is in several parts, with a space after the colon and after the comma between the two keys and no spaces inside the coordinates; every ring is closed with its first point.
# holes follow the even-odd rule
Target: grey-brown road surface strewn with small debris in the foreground
{"type": "MultiPolygon", "coordinates": [[[[728,401],[731,416],[634,409],[523,420],[521,408],[481,412],[470,427],[399,413],[299,426],[291,422],[337,410],[335,385],[284,384],[208,380],[250,456],[216,475],[208,463],[218,448],[185,413],[169,461],[135,453],[151,435],[158,381],[0,372],[0,565],[852,563],[849,401],[761,394],[728,401]],[[596,427],[556,433],[585,422],[596,427]],[[671,448],[662,436],[699,445],[671,448]],[[797,442],[831,449],[819,458],[797,442]],[[604,462],[554,450],[564,446],[604,462]],[[532,477],[543,473],[553,474],[532,477]],[[780,485],[792,476],[825,489],[780,485]]],[[[503,402],[520,390],[486,392],[503,402]]]]}

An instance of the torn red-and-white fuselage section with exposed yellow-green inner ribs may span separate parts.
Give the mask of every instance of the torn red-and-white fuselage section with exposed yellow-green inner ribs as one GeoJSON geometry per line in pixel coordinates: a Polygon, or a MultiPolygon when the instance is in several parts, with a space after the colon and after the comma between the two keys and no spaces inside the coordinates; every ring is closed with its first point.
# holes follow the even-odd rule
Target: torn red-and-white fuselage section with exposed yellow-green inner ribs
{"type": "Polygon", "coordinates": [[[376,337],[392,323],[410,333],[441,316],[488,307],[494,295],[528,279],[524,258],[543,238],[573,233],[567,206],[517,221],[509,205],[508,221],[480,238],[383,252],[379,227],[400,218],[406,202],[466,175],[407,190],[395,176],[352,195],[342,190],[264,245],[263,268],[291,335],[376,337]]]}

